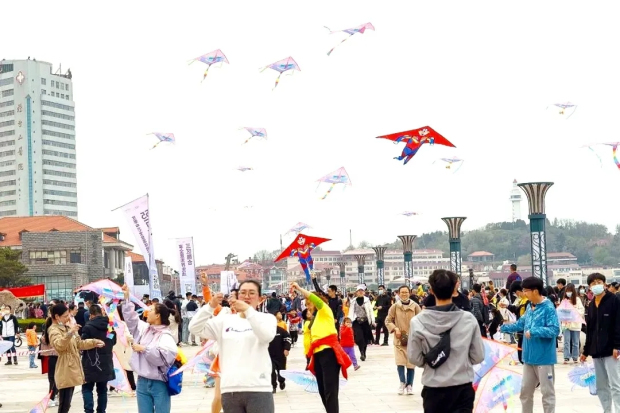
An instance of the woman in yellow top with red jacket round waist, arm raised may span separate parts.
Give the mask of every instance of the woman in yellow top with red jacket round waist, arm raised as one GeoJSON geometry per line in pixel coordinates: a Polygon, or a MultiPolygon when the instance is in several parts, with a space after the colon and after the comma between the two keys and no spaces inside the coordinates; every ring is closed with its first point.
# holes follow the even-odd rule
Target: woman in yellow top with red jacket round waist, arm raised
{"type": "MultiPolygon", "coordinates": [[[[338,392],[340,389],[340,370],[347,378],[347,368],[351,359],[338,342],[338,332],[331,308],[319,296],[304,290],[297,283],[291,283],[291,289],[297,290],[306,298],[307,313],[313,314],[308,324],[311,342],[307,356],[310,358],[308,370],[316,377],[321,401],[327,413],[338,413],[338,392]]],[[[370,303],[368,303],[370,305],[370,303]]],[[[371,310],[372,311],[372,310],[371,310]]]]}

